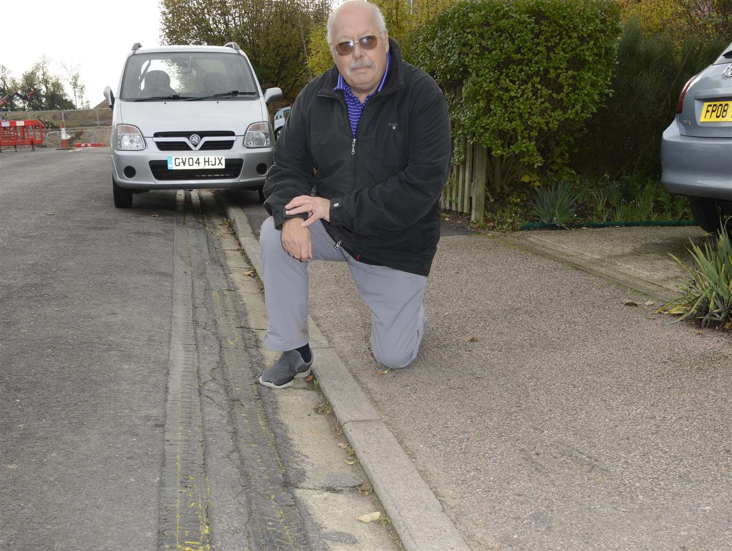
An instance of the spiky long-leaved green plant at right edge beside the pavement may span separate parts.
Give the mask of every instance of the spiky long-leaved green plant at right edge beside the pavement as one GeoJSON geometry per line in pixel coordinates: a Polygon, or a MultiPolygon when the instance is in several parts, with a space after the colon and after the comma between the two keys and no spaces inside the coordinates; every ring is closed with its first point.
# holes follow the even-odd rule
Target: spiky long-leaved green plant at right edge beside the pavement
{"type": "MultiPolygon", "coordinates": [[[[690,268],[678,258],[676,262],[691,276],[683,295],[669,303],[671,314],[679,314],[677,322],[689,316],[702,327],[711,324],[732,329],[732,243],[727,232],[717,238],[717,247],[704,243],[703,250],[692,244],[690,252],[697,267],[690,268]]],[[[673,256],[673,255],[672,255],[673,256]]]]}

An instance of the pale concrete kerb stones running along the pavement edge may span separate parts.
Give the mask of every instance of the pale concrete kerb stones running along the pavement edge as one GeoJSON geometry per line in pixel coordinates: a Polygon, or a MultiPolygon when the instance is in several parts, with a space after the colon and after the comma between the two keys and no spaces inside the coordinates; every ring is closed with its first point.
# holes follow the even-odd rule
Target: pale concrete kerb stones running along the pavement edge
{"type": "MultiPolygon", "coordinates": [[[[216,197],[224,206],[244,253],[261,276],[259,243],[247,215],[228,202],[225,191],[217,191],[216,197]]],[[[324,345],[318,347],[318,361],[313,364],[318,384],[333,406],[333,413],[404,548],[408,551],[470,549],[358,381],[313,319],[309,319],[309,324],[317,330],[316,340],[324,345]]]]}

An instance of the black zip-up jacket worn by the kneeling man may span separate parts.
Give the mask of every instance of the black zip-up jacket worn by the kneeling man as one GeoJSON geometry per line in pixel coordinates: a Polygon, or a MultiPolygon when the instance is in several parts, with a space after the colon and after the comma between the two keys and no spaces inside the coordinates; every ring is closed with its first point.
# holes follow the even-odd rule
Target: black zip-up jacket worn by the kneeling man
{"type": "Polygon", "coordinates": [[[447,102],[435,81],[392,54],[384,87],[366,104],[354,140],[335,66],[303,88],[277,140],[264,185],[275,227],[298,195],[331,199],[329,235],[359,262],[427,276],[440,239],[447,179],[447,102]]]}

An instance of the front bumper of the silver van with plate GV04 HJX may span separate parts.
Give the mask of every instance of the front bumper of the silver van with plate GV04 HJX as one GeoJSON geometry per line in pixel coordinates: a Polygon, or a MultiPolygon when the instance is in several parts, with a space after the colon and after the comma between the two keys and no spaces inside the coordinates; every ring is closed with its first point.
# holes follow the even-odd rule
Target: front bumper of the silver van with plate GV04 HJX
{"type": "Polygon", "coordinates": [[[274,148],[227,151],[112,151],[112,175],[126,189],[257,189],[272,166],[274,148]],[[223,156],[225,169],[168,170],[169,155],[223,156]],[[127,170],[127,175],[125,174],[127,170]],[[130,176],[134,171],[134,175],[130,176]]]}

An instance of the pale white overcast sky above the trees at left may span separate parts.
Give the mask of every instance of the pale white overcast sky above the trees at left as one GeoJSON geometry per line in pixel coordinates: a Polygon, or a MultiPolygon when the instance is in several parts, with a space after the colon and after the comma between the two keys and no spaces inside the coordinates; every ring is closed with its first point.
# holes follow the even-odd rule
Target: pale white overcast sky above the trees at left
{"type": "MultiPolygon", "coordinates": [[[[67,74],[61,64],[78,65],[91,107],[104,100],[105,86],[116,88],[132,44],[160,44],[157,0],[16,1],[4,10],[10,15],[8,9],[18,17],[12,18],[15,23],[2,27],[0,64],[16,78],[41,56],[51,59],[51,71],[63,77],[67,74]],[[21,13],[33,14],[31,20],[41,27],[34,29],[32,23],[26,24],[26,16],[21,13]]],[[[68,86],[67,90],[70,92],[68,86]]]]}

